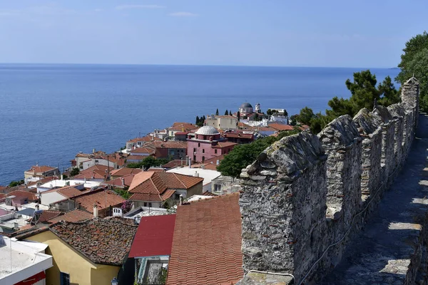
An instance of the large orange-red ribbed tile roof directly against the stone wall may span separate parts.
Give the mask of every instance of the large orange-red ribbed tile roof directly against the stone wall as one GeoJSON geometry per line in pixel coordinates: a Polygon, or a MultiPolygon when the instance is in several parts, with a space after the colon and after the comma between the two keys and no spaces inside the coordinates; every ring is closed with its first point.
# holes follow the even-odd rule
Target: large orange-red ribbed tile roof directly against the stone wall
{"type": "Polygon", "coordinates": [[[243,277],[238,199],[236,193],[178,206],[167,285],[235,284],[243,277]]]}

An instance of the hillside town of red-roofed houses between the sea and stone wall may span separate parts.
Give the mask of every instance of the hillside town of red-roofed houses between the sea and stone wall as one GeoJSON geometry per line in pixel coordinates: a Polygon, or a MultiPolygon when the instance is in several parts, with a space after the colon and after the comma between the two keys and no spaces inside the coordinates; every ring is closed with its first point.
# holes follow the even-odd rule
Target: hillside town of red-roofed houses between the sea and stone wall
{"type": "Polygon", "coordinates": [[[235,284],[240,180],[217,167],[235,146],[294,127],[285,109],[250,103],[202,119],[0,186],[0,251],[14,249],[0,284],[235,284]]]}

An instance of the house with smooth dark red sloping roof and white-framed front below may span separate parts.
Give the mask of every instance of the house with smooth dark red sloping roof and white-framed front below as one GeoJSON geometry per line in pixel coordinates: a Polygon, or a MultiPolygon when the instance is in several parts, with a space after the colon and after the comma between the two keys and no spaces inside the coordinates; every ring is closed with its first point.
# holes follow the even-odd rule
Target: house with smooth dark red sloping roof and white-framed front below
{"type": "Polygon", "coordinates": [[[163,271],[155,276],[148,273],[168,266],[174,226],[175,214],[141,218],[129,252],[129,257],[137,259],[134,275],[138,284],[161,284],[158,279],[163,271]]]}

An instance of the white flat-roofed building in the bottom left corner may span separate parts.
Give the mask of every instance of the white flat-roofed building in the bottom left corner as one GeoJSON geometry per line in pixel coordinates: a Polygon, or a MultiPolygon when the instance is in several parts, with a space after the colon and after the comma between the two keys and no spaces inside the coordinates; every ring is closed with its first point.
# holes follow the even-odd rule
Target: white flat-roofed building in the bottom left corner
{"type": "Polygon", "coordinates": [[[46,247],[0,236],[0,284],[46,284],[45,271],[52,267],[52,257],[44,253],[46,247]]]}

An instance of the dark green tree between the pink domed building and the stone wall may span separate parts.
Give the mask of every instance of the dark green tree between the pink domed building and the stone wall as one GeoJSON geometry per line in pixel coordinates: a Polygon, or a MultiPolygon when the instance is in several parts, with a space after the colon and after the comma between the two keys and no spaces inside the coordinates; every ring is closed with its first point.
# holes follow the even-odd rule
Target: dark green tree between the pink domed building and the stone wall
{"type": "Polygon", "coordinates": [[[282,131],[276,138],[269,136],[244,145],[236,145],[228,155],[225,155],[225,158],[220,162],[220,165],[218,165],[217,170],[220,171],[222,175],[239,177],[241,170],[253,163],[258,155],[268,146],[272,145],[273,142],[287,135],[294,135],[296,133],[300,133],[300,130],[282,131]]]}

